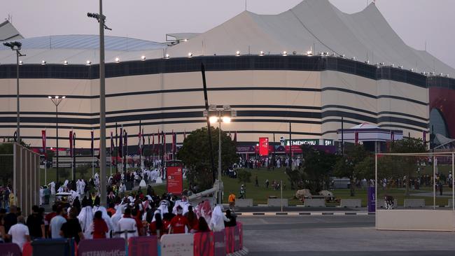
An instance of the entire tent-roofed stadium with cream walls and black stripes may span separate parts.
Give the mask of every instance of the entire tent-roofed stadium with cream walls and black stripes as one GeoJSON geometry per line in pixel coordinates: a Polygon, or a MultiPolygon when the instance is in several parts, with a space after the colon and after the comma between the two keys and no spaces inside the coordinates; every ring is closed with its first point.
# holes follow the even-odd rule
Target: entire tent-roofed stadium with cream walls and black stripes
{"type": "MultiPolygon", "coordinates": [[[[440,138],[455,135],[453,68],[406,45],[374,3],[346,14],[328,0],[305,0],[277,15],[244,11],[201,34],[167,34],[167,42],[106,36],[106,134],[116,124],[137,145],[164,131],[177,143],[207,125],[201,63],[209,104],[230,105],[237,117],[223,124],[241,145],[280,137],[337,141],[337,130],[362,123],[422,138],[433,127],[440,138]],[[289,124],[292,128],[289,131],[289,124]]],[[[0,41],[20,41],[21,137],[55,146],[58,107],[60,146],[69,131],[78,148],[99,140],[99,37],[23,38],[0,24],[0,41]]],[[[0,137],[16,129],[16,55],[0,46],[0,137]]],[[[429,136],[426,137],[428,141],[429,136]]],[[[97,144],[97,143],[96,143],[97,144]]],[[[107,143],[109,145],[109,143],[107,143]]]]}

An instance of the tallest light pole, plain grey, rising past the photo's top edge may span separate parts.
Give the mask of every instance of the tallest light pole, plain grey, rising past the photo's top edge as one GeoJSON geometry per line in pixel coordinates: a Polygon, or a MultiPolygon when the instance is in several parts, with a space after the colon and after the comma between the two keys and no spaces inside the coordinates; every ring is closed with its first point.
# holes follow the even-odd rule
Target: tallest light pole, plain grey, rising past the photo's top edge
{"type": "Polygon", "coordinates": [[[103,15],[103,0],[99,0],[99,14],[87,13],[99,22],[99,187],[100,203],[107,204],[106,194],[106,88],[104,83],[104,29],[110,29],[104,24],[106,16],[103,15]]]}

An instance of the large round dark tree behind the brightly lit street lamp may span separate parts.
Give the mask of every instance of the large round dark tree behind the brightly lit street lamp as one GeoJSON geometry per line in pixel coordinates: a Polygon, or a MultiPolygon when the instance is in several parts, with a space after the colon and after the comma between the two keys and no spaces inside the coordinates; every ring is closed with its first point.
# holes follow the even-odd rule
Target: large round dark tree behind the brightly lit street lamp
{"type": "MultiPolygon", "coordinates": [[[[218,133],[218,128],[211,127],[215,166],[218,166],[218,133]]],[[[187,136],[185,141],[183,141],[182,148],[177,152],[177,159],[181,159],[188,168],[188,183],[197,185],[199,190],[206,190],[213,186],[208,137],[207,128],[197,129],[187,136]]],[[[228,169],[236,161],[237,149],[235,142],[231,140],[225,131],[222,131],[221,169],[228,169]]]]}

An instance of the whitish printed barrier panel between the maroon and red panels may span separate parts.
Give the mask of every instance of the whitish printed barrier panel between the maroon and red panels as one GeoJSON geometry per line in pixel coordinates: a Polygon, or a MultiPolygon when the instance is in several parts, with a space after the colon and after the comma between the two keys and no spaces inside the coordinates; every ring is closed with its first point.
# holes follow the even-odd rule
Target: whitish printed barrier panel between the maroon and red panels
{"type": "Polygon", "coordinates": [[[161,237],[161,255],[193,256],[193,234],[165,234],[161,237]]]}

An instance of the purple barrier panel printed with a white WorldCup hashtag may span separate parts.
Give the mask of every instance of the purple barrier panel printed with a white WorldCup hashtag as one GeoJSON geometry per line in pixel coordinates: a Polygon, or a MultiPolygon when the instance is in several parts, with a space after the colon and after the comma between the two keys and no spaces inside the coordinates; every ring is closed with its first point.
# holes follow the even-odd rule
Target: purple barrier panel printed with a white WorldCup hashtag
{"type": "Polygon", "coordinates": [[[125,256],[125,239],[85,239],[78,246],[79,256],[125,256]]]}

